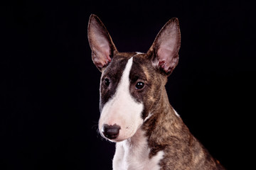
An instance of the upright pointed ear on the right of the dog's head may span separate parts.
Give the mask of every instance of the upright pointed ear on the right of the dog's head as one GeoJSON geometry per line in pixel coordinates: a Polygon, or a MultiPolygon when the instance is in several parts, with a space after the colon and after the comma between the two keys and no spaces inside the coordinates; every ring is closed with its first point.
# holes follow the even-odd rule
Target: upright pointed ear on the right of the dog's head
{"type": "Polygon", "coordinates": [[[148,55],[151,56],[155,67],[169,75],[178,64],[178,50],[180,47],[181,32],[178,18],[171,18],[156,36],[148,55]]]}

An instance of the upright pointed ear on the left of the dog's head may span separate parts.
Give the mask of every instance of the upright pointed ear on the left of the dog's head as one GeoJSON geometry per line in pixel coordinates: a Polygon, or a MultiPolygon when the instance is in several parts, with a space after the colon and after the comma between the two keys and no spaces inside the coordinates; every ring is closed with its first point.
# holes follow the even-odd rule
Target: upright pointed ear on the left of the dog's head
{"type": "Polygon", "coordinates": [[[90,16],[87,33],[92,50],[92,61],[102,72],[102,69],[112,60],[117,48],[100,18],[94,14],[90,16]]]}

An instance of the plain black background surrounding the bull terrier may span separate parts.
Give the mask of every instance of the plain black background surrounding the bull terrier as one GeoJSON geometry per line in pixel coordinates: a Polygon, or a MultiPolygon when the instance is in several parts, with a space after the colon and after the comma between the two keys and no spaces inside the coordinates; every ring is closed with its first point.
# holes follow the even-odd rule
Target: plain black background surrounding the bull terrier
{"type": "Polygon", "coordinates": [[[179,64],[166,90],[193,135],[227,169],[248,164],[255,96],[252,10],[244,1],[9,1],[1,5],[0,169],[111,169],[97,133],[91,13],[120,52],[146,52],[178,17],[179,64]]]}

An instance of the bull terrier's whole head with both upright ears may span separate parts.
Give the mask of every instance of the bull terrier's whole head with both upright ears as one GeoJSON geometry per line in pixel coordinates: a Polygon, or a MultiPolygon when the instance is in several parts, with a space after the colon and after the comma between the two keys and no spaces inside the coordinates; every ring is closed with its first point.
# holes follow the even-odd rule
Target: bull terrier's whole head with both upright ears
{"type": "Polygon", "coordinates": [[[118,52],[95,15],[90,16],[88,39],[92,61],[102,72],[100,134],[112,142],[126,140],[159,107],[167,77],[178,64],[178,19],[171,18],[166,23],[146,53],[118,52]]]}

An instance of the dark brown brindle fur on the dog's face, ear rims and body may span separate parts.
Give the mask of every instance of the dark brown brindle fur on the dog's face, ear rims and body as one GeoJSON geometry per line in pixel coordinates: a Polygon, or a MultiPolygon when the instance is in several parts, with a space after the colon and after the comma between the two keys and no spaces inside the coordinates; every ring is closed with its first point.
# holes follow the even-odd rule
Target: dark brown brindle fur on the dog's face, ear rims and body
{"type": "MultiPolygon", "coordinates": [[[[174,108],[169,103],[166,94],[165,85],[167,77],[178,64],[178,49],[180,47],[180,32],[178,28],[178,20],[171,19],[171,22],[177,22],[178,43],[176,51],[174,51],[174,67],[164,70],[164,66],[159,61],[159,67],[153,67],[152,63],[157,58],[157,49],[159,48],[159,37],[164,38],[162,31],[156,36],[156,40],[149,49],[149,52],[137,54],[136,52],[118,52],[107,29],[97,16],[91,16],[92,21],[96,22],[97,27],[102,27],[102,35],[110,43],[110,55],[107,58],[97,57],[93,50],[92,39],[93,30],[89,27],[89,40],[92,47],[92,60],[102,72],[102,81],[106,77],[114,79],[112,81],[112,90],[106,91],[101,84],[100,110],[102,106],[113,96],[119,79],[124,70],[124,66],[130,57],[133,58],[132,69],[129,74],[131,86],[134,86],[138,77],[145,81],[146,86],[143,91],[134,91],[130,89],[131,95],[140,103],[143,102],[144,111],[142,119],[145,120],[149,114],[151,116],[144,121],[142,130],[147,137],[148,147],[150,149],[149,158],[154,157],[159,151],[164,152],[164,157],[159,162],[161,170],[167,169],[224,169],[220,163],[210,156],[209,152],[201,145],[198,140],[191,134],[181,118],[176,115],[174,108]],[[97,58],[95,58],[97,57],[97,58]],[[111,62],[110,62],[111,61],[111,62]],[[164,72],[166,71],[166,72],[164,72]]],[[[169,24],[167,23],[167,24],[169,24]]],[[[164,30],[163,28],[162,30],[164,30]]],[[[97,50],[95,50],[97,52],[97,50]]]]}

